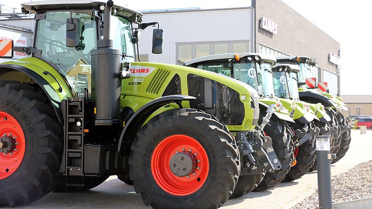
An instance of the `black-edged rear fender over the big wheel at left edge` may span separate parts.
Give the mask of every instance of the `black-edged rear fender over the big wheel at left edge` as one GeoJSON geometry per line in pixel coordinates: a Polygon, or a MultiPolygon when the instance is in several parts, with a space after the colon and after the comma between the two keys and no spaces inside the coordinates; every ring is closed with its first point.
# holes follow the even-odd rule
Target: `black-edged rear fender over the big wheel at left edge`
{"type": "Polygon", "coordinates": [[[11,69],[11,70],[22,72],[26,74],[27,76],[29,76],[33,81],[35,81],[37,85],[39,85],[39,87],[45,93],[45,95],[48,97],[50,103],[52,104],[54,112],[58,118],[58,121],[61,124],[63,124],[62,112],[60,110],[61,99],[59,98],[57,92],[54,91],[50,83],[48,83],[41,75],[39,75],[35,71],[27,67],[24,67],[24,66],[15,65],[15,64],[0,64],[0,72],[3,69],[11,69]]]}

